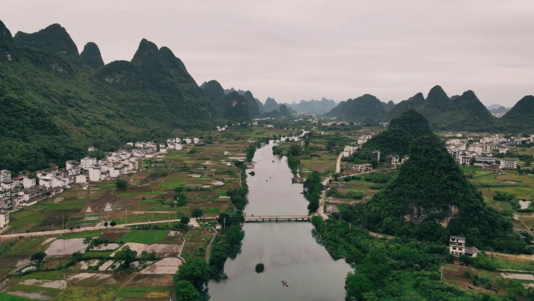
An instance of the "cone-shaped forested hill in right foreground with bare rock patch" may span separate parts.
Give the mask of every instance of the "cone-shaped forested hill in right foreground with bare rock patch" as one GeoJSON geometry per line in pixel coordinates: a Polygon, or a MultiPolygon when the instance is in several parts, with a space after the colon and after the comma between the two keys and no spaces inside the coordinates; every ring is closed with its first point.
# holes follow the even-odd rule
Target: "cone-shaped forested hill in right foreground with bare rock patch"
{"type": "Polygon", "coordinates": [[[459,235],[477,248],[526,251],[509,217],[485,205],[439,137],[414,139],[409,156],[386,187],[343,219],[395,236],[446,242],[459,235]]]}

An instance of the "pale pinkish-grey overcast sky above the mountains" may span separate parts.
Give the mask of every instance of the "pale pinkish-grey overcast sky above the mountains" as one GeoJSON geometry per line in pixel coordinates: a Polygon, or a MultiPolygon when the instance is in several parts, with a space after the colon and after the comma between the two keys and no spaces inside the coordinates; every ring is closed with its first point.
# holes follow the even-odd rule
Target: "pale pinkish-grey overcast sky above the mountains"
{"type": "Polygon", "coordinates": [[[251,90],[262,102],[373,94],[382,101],[474,90],[512,106],[534,94],[534,1],[3,0],[14,35],[53,23],[105,63],[142,38],[169,47],[197,83],[251,90]]]}

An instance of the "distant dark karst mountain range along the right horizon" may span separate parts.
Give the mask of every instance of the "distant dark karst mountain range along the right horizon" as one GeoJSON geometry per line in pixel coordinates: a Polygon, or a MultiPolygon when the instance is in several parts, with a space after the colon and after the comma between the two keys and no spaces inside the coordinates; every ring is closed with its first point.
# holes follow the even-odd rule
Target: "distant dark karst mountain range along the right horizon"
{"type": "Polygon", "coordinates": [[[325,115],[356,122],[389,121],[410,109],[420,112],[434,129],[534,130],[534,97],[531,95],[523,97],[510,110],[492,106],[493,112],[490,112],[473,91],[449,97],[440,86],[432,88],[426,98],[418,93],[396,105],[365,94],[339,103],[325,115]],[[502,114],[502,118],[492,113],[502,114]]]}

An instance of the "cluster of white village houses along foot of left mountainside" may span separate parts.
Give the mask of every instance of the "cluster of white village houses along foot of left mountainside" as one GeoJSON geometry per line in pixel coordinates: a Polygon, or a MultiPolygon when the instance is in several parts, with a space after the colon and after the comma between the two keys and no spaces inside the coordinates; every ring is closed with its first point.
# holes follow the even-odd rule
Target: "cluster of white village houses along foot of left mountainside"
{"type": "MultiPolygon", "coordinates": [[[[34,205],[47,197],[60,194],[65,189],[87,190],[89,184],[110,182],[137,173],[143,160],[162,158],[167,150],[182,150],[199,144],[197,137],[168,139],[165,144],[153,142],[129,142],[124,149],[107,152],[105,158],[84,157],[80,161],[68,160],[65,168],[54,165],[30,175],[11,177],[6,169],[0,171],[0,231],[9,225],[9,213],[34,205]]],[[[88,153],[98,149],[91,147],[88,153]]]]}

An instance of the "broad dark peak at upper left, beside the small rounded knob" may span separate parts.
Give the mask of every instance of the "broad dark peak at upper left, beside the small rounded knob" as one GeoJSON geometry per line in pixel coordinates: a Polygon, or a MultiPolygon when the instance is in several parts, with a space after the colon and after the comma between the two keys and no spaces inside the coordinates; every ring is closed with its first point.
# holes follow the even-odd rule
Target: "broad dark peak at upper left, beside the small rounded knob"
{"type": "Polygon", "coordinates": [[[18,32],[13,41],[26,47],[65,53],[67,55],[78,55],[78,48],[70,38],[67,30],[59,24],[52,24],[36,33],[18,32]]]}

